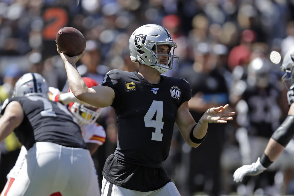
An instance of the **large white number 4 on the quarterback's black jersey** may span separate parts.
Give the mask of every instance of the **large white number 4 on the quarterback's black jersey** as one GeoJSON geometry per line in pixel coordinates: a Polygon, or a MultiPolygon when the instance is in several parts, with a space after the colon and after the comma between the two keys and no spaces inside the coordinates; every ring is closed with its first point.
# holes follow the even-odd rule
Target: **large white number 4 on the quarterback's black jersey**
{"type": "Polygon", "coordinates": [[[146,115],[144,116],[144,122],[146,127],[154,127],[155,133],[152,133],[151,140],[162,141],[161,129],[163,129],[162,122],[163,116],[163,102],[162,101],[153,101],[146,115]],[[156,113],[156,119],[152,120],[153,116],[156,113]]]}

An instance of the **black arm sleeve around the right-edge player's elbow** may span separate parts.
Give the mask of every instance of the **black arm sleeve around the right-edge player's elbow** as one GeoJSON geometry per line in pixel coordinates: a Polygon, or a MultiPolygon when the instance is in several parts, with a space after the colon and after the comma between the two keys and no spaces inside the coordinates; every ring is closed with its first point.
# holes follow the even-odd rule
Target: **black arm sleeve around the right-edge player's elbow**
{"type": "Polygon", "coordinates": [[[286,146],[294,136],[294,115],[288,115],[284,122],[273,133],[272,138],[286,146]]]}

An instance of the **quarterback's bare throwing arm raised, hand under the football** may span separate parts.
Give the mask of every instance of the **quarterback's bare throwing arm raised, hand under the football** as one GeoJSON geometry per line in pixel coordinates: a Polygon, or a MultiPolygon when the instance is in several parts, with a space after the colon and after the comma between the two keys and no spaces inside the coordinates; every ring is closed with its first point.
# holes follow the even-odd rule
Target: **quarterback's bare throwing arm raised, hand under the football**
{"type": "Polygon", "coordinates": [[[83,51],[80,55],[69,57],[60,51],[57,44],[56,47],[58,54],[64,62],[67,79],[74,96],[92,106],[110,106],[114,100],[114,90],[110,87],[100,85],[88,88],[77,71],[76,62],[84,55],[85,51],[83,51]]]}

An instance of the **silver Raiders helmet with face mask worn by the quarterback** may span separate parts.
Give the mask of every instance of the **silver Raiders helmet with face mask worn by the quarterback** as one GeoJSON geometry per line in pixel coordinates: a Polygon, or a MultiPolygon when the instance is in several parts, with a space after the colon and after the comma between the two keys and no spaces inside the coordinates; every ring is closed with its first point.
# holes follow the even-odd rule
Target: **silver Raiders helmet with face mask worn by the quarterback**
{"type": "Polygon", "coordinates": [[[179,56],[174,55],[177,45],[168,30],[160,25],[149,24],[137,28],[130,36],[129,43],[132,62],[148,65],[159,73],[175,70],[178,66],[179,56]],[[159,62],[158,56],[163,55],[157,54],[158,45],[168,45],[170,49],[168,55],[164,55],[168,56],[167,65],[159,62]]]}

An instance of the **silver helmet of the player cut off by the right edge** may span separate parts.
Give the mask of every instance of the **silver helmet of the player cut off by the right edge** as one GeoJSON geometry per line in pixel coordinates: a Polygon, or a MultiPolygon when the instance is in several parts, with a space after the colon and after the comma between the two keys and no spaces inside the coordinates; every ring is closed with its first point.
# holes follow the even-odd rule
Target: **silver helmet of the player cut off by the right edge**
{"type": "Polygon", "coordinates": [[[282,81],[287,90],[290,90],[291,86],[294,85],[294,47],[285,54],[281,65],[281,70],[286,73],[282,77],[282,81]]]}

